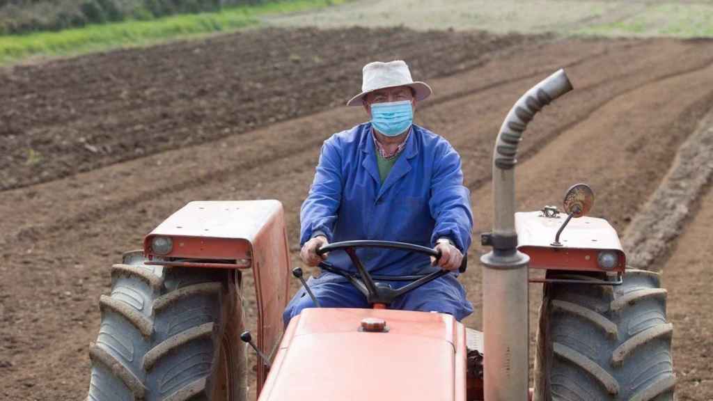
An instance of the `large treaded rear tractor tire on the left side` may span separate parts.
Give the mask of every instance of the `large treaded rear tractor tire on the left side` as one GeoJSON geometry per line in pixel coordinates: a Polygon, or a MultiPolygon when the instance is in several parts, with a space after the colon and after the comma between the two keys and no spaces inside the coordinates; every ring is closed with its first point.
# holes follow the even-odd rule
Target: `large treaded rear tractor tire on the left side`
{"type": "Polygon", "coordinates": [[[99,301],[90,401],[245,401],[240,273],[124,255],[99,301]]]}

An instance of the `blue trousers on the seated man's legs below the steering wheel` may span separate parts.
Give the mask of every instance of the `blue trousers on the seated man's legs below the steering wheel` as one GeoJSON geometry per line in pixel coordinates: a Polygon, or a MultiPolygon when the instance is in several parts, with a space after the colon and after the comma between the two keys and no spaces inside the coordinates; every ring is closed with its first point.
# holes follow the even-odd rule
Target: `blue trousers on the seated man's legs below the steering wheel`
{"type": "MultiPolygon", "coordinates": [[[[392,288],[400,288],[408,282],[386,282],[392,288]]],[[[314,293],[314,297],[319,300],[322,308],[369,308],[366,297],[352,285],[352,283],[317,283],[310,278],[307,281],[309,288],[314,293]]],[[[294,316],[299,315],[304,308],[314,308],[312,298],[309,298],[307,291],[300,288],[297,294],[287,304],[282,320],[284,325],[294,316]]],[[[399,310],[420,310],[422,312],[436,311],[453,315],[458,321],[473,313],[473,305],[466,298],[466,291],[463,285],[453,277],[444,275],[441,278],[431,281],[421,287],[411,290],[399,298],[396,298],[389,309],[399,310]]]]}

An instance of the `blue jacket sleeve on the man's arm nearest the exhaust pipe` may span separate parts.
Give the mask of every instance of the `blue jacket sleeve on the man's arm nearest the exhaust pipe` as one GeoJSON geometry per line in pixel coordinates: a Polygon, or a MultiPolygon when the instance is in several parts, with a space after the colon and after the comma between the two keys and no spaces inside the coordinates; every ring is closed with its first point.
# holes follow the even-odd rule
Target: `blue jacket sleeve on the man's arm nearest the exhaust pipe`
{"type": "Polygon", "coordinates": [[[429,208],[436,220],[431,234],[431,245],[438,238],[446,237],[456,244],[456,248],[466,253],[471,245],[473,213],[471,211],[471,191],[463,186],[461,156],[443,141],[439,144],[431,178],[431,199],[429,208]]]}

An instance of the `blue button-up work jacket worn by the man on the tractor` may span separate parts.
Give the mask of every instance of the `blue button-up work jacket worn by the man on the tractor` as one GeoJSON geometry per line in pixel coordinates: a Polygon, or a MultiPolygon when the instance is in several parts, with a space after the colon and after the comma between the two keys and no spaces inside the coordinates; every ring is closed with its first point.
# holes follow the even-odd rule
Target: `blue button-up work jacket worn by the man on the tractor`
{"type": "MultiPolygon", "coordinates": [[[[463,186],[461,158],[444,138],[414,124],[382,184],[371,123],[335,133],[322,146],[300,222],[301,245],[314,233],[324,233],[330,243],[394,240],[429,248],[446,237],[465,254],[471,245],[473,213],[470,191],[463,186]]],[[[434,270],[429,257],[419,253],[363,248],[357,255],[369,272],[379,275],[434,270]]],[[[355,271],[344,251],[330,253],[328,260],[355,271]]],[[[317,283],[327,280],[339,278],[323,273],[317,283]]]]}

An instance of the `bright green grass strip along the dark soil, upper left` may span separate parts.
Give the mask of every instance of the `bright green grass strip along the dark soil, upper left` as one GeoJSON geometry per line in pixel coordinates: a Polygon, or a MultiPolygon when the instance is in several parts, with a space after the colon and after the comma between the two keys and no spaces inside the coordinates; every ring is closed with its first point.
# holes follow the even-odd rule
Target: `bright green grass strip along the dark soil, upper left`
{"type": "Polygon", "coordinates": [[[260,16],[317,9],[345,0],[282,0],[240,6],[215,13],[184,14],[151,21],[88,25],[58,32],[0,36],[0,64],[30,56],[66,56],[120,47],[145,46],[168,39],[185,39],[212,32],[235,31],[260,24],[260,16]]]}

